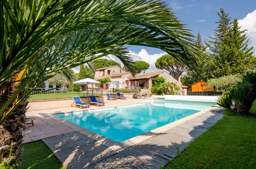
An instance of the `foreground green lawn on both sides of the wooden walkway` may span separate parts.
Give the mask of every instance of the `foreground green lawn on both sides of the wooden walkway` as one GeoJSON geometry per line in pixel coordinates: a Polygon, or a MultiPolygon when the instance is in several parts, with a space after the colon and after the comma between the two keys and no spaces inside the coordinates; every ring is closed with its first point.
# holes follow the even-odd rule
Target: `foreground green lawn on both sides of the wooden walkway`
{"type": "MultiPolygon", "coordinates": [[[[250,110],[256,114],[256,101],[250,110]]],[[[165,168],[255,168],[256,118],[227,116],[196,138],[165,168]]],[[[24,145],[18,168],[64,168],[42,141],[24,145]]]]}

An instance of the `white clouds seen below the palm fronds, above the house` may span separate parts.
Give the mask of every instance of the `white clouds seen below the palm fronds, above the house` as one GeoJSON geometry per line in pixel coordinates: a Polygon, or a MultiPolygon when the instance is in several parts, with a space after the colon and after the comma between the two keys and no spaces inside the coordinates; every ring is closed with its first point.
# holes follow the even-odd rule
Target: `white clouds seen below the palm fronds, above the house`
{"type": "MultiPolygon", "coordinates": [[[[148,62],[148,64],[150,65],[149,66],[149,69],[146,70],[146,72],[154,72],[154,71],[159,71],[159,69],[157,69],[155,67],[155,61],[160,58],[161,56],[167,54],[166,52],[162,52],[162,53],[156,53],[156,54],[148,54],[148,52],[145,50],[145,49],[142,49],[139,53],[135,53],[135,52],[132,52],[132,51],[129,51],[129,54],[132,56],[133,58],[133,61],[137,61],[137,60],[143,60],[143,61],[146,61],[148,62]]],[[[119,62],[122,66],[122,62],[115,56],[113,55],[108,55],[108,57],[102,57],[102,58],[107,58],[107,59],[111,59],[111,60],[114,60],[114,61],[117,61],[119,62]]],[[[72,70],[75,72],[75,73],[78,73],[79,70],[80,70],[80,67],[75,67],[75,68],[72,68],[72,70]]]]}

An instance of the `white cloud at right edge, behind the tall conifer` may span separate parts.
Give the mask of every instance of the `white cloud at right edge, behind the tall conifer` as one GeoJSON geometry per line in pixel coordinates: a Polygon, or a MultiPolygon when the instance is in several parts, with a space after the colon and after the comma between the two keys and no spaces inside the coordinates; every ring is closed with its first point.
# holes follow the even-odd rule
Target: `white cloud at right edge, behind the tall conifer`
{"type": "Polygon", "coordinates": [[[238,24],[242,29],[247,29],[246,34],[250,39],[250,45],[253,46],[253,50],[256,52],[256,10],[238,20],[238,24]]]}

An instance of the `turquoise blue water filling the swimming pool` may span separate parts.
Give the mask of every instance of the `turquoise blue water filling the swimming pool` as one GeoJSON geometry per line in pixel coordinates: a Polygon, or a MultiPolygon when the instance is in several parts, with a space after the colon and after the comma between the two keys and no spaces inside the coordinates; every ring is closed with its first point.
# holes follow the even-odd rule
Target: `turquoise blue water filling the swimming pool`
{"type": "Polygon", "coordinates": [[[115,108],[55,114],[114,141],[124,141],[216,103],[154,100],[115,108]]]}

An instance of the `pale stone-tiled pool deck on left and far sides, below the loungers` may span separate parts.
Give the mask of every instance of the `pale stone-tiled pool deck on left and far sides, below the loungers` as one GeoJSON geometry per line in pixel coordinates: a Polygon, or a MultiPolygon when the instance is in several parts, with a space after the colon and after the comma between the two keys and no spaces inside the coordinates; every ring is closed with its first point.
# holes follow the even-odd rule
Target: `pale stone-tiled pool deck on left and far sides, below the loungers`
{"type": "MultiPolygon", "coordinates": [[[[75,107],[65,107],[65,108],[57,108],[57,109],[47,109],[47,110],[38,110],[38,111],[28,111],[26,113],[27,117],[35,117],[34,123],[35,125],[32,126],[28,124],[24,131],[24,139],[23,143],[28,143],[31,141],[41,140],[47,137],[52,137],[60,134],[65,134],[69,132],[73,132],[72,128],[69,126],[60,123],[54,119],[52,119],[51,115],[55,113],[66,113],[66,112],[75,112],[81,110],[92,110],[92,109],[101,109],[101,108],[108,108],[113,107],[116,105],[128,105],[128,104],[135,104],[141,103],[141,101],[150,100],[147,99],[117,99],[117,100],[107,100],[104,98],[106,102],[105,106],[97,107],[96,105],[91,105],[90,108],[75,108],[75,107]]],[[[38,102],[40,104],[40,102],[38,102]]]]}

